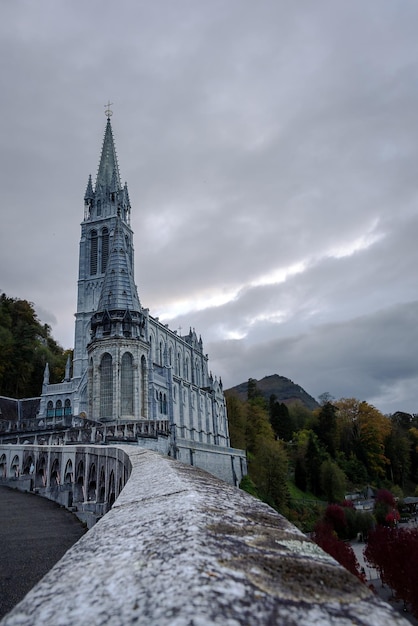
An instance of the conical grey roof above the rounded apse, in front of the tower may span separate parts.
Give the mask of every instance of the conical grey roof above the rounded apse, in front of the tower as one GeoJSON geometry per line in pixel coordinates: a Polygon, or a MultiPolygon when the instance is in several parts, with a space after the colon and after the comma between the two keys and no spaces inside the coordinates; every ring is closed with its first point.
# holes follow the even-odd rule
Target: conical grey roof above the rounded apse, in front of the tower
{"type": "Polygon", "coordinates": [[[98,311],[141,311],[120,214],[116,217],[98,311]]]}

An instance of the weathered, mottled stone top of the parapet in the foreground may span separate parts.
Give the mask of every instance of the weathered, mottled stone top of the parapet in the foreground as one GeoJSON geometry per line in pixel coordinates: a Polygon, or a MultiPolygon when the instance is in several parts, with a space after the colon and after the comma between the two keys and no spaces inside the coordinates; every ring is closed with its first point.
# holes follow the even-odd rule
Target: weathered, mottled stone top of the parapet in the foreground
{"type": "Polygon", "coordinates": [[[3,626],[407,625],[282,516],[155,452],[3,626]]]}

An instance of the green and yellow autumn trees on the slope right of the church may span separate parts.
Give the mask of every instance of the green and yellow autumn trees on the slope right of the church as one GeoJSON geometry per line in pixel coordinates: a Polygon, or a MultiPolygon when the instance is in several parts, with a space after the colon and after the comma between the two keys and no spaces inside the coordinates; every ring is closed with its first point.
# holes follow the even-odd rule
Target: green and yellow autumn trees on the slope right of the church
{"type": "MultiPolygon", "coordinates": [[[[252,489],[304,530],[312,514],[302,501],[341,502],[368,486],[414,495],[418,479],[418,420],[385,416],[355,398],[324,401],[309,410],[267,401],[249,379],[247,398],[227,392],[231,445],[248,452],[252,489]]],[[[309,508],[309,507],[308,507],[309,508]]],[[[311,520],[311,521],[312,521],[311,520]]],[[[312,528],[310,528],[312,530],[312,528]]]]}

